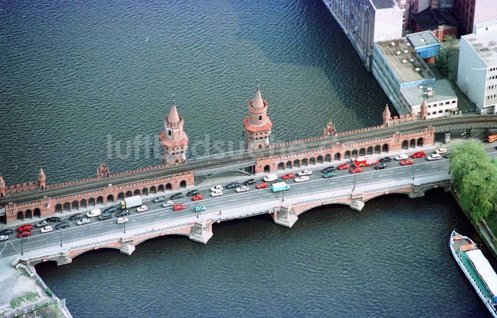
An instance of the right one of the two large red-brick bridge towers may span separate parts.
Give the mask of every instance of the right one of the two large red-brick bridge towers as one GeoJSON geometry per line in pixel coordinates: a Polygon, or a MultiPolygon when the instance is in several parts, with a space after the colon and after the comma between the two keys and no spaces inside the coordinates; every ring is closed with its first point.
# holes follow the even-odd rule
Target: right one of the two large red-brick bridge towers
{"type": "Polygon", "coordinates": [[[247,149],[262,149],[269,146],[269,135],[273,123],[266,114],[267,105],[257,85],[254,98],[248,101],[248,116],[243,120],[247,149]]]}

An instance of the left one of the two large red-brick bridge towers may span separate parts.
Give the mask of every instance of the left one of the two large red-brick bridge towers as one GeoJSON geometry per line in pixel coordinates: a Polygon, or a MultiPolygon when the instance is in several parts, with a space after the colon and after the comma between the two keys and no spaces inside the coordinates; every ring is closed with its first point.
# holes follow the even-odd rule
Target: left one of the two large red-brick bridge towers
{"type": "Polygon", "coordinates": [[[164,118],[165,129],[159,137],[164,149],[164,164],[186,162],[186,149],[188,148],[188,137],[183,131],[183,117],[178,114],[176,104],[172,101],[171,110],[164,118]]]}

